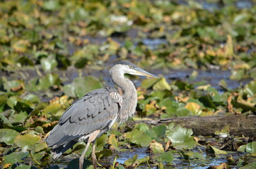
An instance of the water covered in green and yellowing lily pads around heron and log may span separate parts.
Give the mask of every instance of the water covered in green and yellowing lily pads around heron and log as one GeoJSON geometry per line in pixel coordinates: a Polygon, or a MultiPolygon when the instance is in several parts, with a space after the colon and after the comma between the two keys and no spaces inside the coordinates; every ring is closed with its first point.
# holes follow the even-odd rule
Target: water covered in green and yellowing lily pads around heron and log
{"type": "Polygon", "coordinates": [[[127,59],[161,78],[143,80],[136,115],[97,140],[104,168],[197,168],[213,159],[219,168],[255,168],[255,135],[232,135],[226,125],[197,136],[151,123],[255,115],[256,6],[241,3],[1,1],[1,167],[78,166],[84,143],[56,162],[44,139],[73,101],[111,84],[111,63],[127,59]]]}

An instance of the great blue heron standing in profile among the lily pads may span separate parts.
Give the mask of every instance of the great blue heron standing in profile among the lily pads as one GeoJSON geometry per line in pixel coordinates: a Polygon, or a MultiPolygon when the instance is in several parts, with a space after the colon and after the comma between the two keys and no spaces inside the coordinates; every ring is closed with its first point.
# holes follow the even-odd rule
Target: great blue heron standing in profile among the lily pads
{"type": "Polygon", "coordinates": [[[125,73],[158,78],[129,61],[115,63],[110,69],[110,77],[122,89],[122,94],[115,87],[105,86],[88,92],[67,108],[46,139],[48,146],[52,147],[53,158],[58,158],[77,142],[86,142],[79,158],[79,169],[82,169],[86,151],[93,142],[91,157],[93,168],[96,168],[95,140],[110,130],[115,122],[124,123],[135,113],[136,88],[124,77],[125,73]]]}

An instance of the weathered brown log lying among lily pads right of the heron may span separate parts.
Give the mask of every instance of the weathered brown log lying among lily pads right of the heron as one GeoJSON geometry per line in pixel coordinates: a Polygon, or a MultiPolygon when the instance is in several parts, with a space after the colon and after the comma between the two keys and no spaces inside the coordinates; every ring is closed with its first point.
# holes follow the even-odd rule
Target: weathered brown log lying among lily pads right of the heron
{"type": "MultiPolygon", "coordinates": [[[[136,121],[136,123],[139,122],[136,121]]],[[[151,125],[175,123],[186,128],[191,128],[194,135],[204,136],[214,135],[214,132],[228,126],[231,135],[256,137],[256,115],[180,117],[161,120],[144,120],[143,123],[151,125]]]]}

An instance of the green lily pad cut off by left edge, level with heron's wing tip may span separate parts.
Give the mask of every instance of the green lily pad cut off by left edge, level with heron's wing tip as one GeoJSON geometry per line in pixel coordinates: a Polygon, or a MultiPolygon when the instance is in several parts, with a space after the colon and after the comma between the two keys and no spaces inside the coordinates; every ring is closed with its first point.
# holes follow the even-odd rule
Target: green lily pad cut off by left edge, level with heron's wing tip
{"type": "Polygon", "coordinates": [[[14,139],[20,135],[16,130],[0,129],[0,142],[5,142],[7,145],[13,145],[14,139]]]}

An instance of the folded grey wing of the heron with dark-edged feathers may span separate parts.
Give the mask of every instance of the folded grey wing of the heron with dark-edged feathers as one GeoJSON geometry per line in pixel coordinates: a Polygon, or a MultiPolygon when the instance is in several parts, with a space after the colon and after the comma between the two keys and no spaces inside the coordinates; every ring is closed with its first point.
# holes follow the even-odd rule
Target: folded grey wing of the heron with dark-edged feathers
{"type": "Polygon", "coordinates": [[[121,105],[122,96],[115,88],[89,92],[64,112],[47,138],[47,144],[58,146],[95,130],[106,130],[117,119],[121,105]]]}

